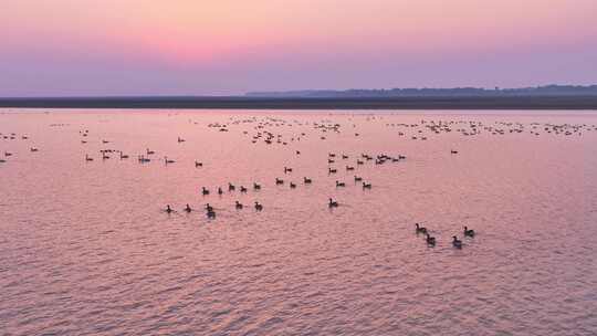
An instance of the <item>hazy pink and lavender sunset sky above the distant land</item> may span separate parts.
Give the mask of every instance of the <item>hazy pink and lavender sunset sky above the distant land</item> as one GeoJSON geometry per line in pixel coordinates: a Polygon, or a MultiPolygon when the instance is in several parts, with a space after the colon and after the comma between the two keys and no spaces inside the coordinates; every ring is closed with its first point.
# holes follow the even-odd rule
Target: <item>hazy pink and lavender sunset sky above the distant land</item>
{"type": "Polygon", "coordinates": [[[0,0],[0,96],[597,84],[597,0],[0,0]]]}

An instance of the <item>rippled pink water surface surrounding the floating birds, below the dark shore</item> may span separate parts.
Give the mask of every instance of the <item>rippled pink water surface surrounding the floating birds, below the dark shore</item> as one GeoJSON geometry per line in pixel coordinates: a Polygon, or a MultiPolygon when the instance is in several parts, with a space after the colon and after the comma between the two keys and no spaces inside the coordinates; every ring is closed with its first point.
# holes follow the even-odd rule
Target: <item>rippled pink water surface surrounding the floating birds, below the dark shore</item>
{"type": "Polygon", "coordinates": [[[597,113],[573,112],[0,111],[0,334],[595,335],[594,125],[597,113]],[[457,130],[470,120],[505,132],[457,130]],[[259,130],[287,145],[253,144],[259,130]],[[407,158],[357,166],[363,153],[407,158]]]}

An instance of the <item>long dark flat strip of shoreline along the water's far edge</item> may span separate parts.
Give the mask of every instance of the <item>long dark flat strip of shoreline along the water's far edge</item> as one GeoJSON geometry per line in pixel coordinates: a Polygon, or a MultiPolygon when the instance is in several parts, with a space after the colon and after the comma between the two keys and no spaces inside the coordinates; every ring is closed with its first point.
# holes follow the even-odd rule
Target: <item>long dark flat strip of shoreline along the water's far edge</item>
{"type": "Polygon", "coordinates": [[[597,96],[426,96],[426,97],[39,97],[0,98],[2,108],[171,109],[585,109],[597,96]]]}

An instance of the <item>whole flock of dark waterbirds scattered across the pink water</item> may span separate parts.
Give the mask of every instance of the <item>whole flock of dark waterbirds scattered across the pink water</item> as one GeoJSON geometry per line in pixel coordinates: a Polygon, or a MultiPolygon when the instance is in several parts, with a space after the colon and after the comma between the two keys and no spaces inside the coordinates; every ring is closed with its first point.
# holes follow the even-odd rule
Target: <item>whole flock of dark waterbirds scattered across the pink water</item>
{"type": "MultiPolygon", "coordinates": [[[[384,116],[377,116],[377,115],[370,115],[366,116],[367,122],[381,122],[384,119],[384,116]]],[[[355,137],[360,137],[360,132],[354,132],[356,128],[356,124],[353,122],[353,117],[348,117],[348,125],[342,125],[337,122],[324,119],[318,122],[304,122],[304,120],[286,120],[282,118],[274,118],[274,117],[250,117],[250,118],[230,118],[227,123],[212,123],[208,125],[208,128],[216,129],[217,132],[230,132],[234,128],[234,126],[240,125],[248,125],[252,124],[253,127],[253,134],[250,134],[249,130],[244,129],[242,130],[242,134],[244,136],[249,137],[249,140],[252,144],[259,144],[262,143],[266,146],[270,145],[282,145],[287,146],[292,143],[298,143],[305,137],[310,136],[305,132],[292,132],[289,135],[289,132],[285,132],[287,129],[294,130],[296,127],[311,127],[313,130],[318,133],[317,137],[320,140],[326,140],[329,138],[331,135],[338,135],[341,134],[345,128],[349,128],[352,126],[353,130],[350,130],[350,135],[354,135],[355,137]],[[352,122],[352,125],[350,125],[352,122]],[[274,129],[279,129],[279,132],[274,132],[274,129]]],[[[189,123],[198,124],[197,122],[189,120],[189,123]]],[[[55,126],[55,125],[51,125],[55,126]]],[[[479,136],[481,134],[490,134],[494,136],[504,136],[506,134],[523,134],[528,133],[534,136],[538,136],[541,133],[543,134],[553,134],[553,135],[562,135],[562,136],[580,136],[584,132],[596,132],[597,126],[595,125],[572,125],[572,124],[551,124],[551,123],[532,123],[532,124],[522,124],[522,123],[503,123],[503,122],[496,122],[492,125],[486,125],[481,122],[472,122],[472,120],[420,120],[419,123],[411,123],[411,124],[398,124],[398,123],[386,123],[386,127],[388,128],[398,128],[397,136],[399,137],[408,137],[410,136],[411,140],[427,140],[429,137],[434,135],[440,135],[442,133],[458,133],[462,136],[479,136]],[[408,135],[407,135],[408,134],[408,135]]],[[[90,130],[80,130],[81,135],[81,144],[87,144],[88,137],[90,137],[90,130]]],[[[27,135],[20,135],[18,136],[14,133],[9,134],[2,134],[0,133],[0,139],[3,140],[17,140],[17,139],[28,140],[29,136],[27,135]]],[[[186,143],[186,139],[182,137],[177,138],[177,143],[186,143]]],[[[109,140],[102,139],[102,145],[111,144],[109,140]]],[[[31,153],[39,151],[35,147],[30,147],[29,150],[31,153]]],[[[450,154],[455,155],[459,151],[455,149],[450,149],[450,154]]],[[[293,149],[293,154],[296,156],[301,156],[301,151],[293,149]]],[[[13,156],[12,151],[4,150],[3,156],[0,156],[0,164],[8,162],[9,158],[13,156]]],[[[123,150],[118,149],[101,149],[100,150],[100,157],[102,160],[107,160],[113,157],[116,157],[121,160],[129,159],[129,156],[123,150]]],[[[163,158],[157,158],[156,151],[151,150],[149,148],[146,148],[142,154],[136,156],[139,164],[148,164],[151,161],[163,161],[164,165],[172,165],[177,161],[168,156],[164,156],[163,158]]],[[[341,164],[339,167],[342,167],[342,170],[345,170],[346,174],[352,175],[352,179],[354,179],[354,182],[356,185],[359,185],[360,188],[364,190],[368,190],[373,188],[373,185],[370,182],[367,182],[363,179],[363,177],[358,175],[354,175],[353,172],[357,169],[357,167],[367,165],[368,162],[373,162],[375,166],[385,165],[388,162],[400,162],[406,160],[405,155],[396,155],[396,156],[389,156],[386,154],[379,154],[379,155],[370,155],[370,154],[359,154],[356,156],[356,159],[354,159],[353,164],[349,164],[348,159],[350,158],[349,155],[344,153],[328,153],[326,162],[327,162],[327,176],[332,177],[335,176],[338,172],[338,164],[341,164]]],[[[94,161],[94,157],[86,154],[84,160],[86,162],[94,161]]],[[[200,160],[195,160],[193,162],[196,168],[203,167],[203,162],[200,160]]],[[[290,175],[293,172],[292,167],[283,167],[284,175],[290,175]]],[[[313,179],[306,176],[302,177],[302,183],[303,185],[311,185],[313,183],[313,179]]],[[[335,188],[345,188],[346,182],[338,179],[333,178],[335,188]]],[[[284,180],[283,178],[276,177],[273,183],[275,186],[283,186],[287,182],[287,186],[290,189],[295,189],[298,185],[295,180],[284,180]]],[[[237,186],[232,182],[228,182],[228,186],[222,188],[217,187],[214,190],[218,195],[223,195],[224,192],[234,192],[238,190],[241,193],[247,193],[249,189],[252,189],[253,191],[259,191],[262,189],[261,183],[253,182],[251,187],[245,186],[237,186]],[[224,191],[226,189],[226,191],[224,191]]],[[[202,196],[207,197],[211,193],[211,190],[208,187],[201,187],[199,191],[202,196]]],[[[323,206],[323,204],[322,204],[323,206]]],[[[339,207],[339,202],[335,200],[334,198],[329,197],[327,200],[327,208],[334,209],[339,207]]],[[[245,204],[241,203],[239,200],[237,200],[233,204],[235,210],[242,210],[244,209],[245,204]]],[[[253,201],[252,208],[254,208],[255,211],[263,211],[264,207],[259,201],[253,201]]],[[[172,213],[176,212],[175,209],[170,204],[167,204],[165,209],[163,209],[166,213],[172,213]]],[[[203,207],[201,207],[201,210],[206,212],[206,216],[208,219],[216,219],[216,208],[211,206],[210,203],[206,203],[203,207]]],[[[192,211],[196,211],[196,209],[191,208],[190,204],[186,204],[182,208],[184,212],[190,213],[192,211]]],[[[420,223],[416,223],[416,233],[417,234],[423,234],[426,243],[430,246],[434,246],[437,243],[437,240],[434,237],[430,234],[430,231],[421,227],[420,223]]],[[[462,231],[462,234],[464,238],[474,238],[475,232],[472,229],[469,229],[468,227],[464,227],[464,230],[462,231]]],[[[457,249],[462,248],[462,240],[458,238],[458,235],[452,237],[452,245],[457,249]]]]}

